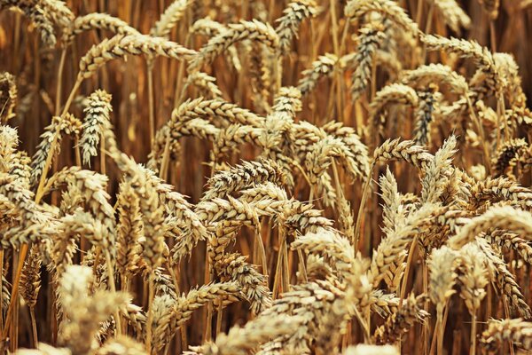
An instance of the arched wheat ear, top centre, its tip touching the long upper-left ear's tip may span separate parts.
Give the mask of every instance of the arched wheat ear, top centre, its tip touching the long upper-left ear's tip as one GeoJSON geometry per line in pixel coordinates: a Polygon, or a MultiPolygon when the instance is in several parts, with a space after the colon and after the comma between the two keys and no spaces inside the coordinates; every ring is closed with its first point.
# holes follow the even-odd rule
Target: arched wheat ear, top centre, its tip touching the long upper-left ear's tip
{"type": "Polygon", "coordinates": [[[258,41],[270,47],[272,51],[278,51],[279,38],[270,24],[258,20],[241,21],[229,25],[227,31],[212,37],[192,59],[189,71],[198,70],[203,65],[212,63],[216,56],[232,44],[243,40],[258,41]]]}

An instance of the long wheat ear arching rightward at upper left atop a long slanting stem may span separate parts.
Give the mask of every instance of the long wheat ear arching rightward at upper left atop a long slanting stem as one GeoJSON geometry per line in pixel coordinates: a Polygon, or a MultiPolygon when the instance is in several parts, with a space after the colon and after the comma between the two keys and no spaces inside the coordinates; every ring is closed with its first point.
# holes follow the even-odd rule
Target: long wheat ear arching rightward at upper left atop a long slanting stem
{"type": "Polygon", "coordinates": [[[77,81],[90,78],[106,62],[126,55],[163,56],[178,60],[191,59],[195,51],[164,38],[145,35],[116,35],[93,45],[80,59],[77,81]]]}

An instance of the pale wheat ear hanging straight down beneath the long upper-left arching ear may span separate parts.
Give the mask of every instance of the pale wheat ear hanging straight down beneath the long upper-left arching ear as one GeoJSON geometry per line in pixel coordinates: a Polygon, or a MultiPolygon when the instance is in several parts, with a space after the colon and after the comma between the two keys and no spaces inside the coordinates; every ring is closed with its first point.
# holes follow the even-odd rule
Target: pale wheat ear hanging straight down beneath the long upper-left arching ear
{"type": "Polygon", "coordinates": [[[85,122],[82,125],[82,146],[83,163],[90,166],[90,158],[98,155],[98,144],[102,131],[109,124],[111,111],[111,95],[106,91],[97,90],[90,94],[87,106],[83,109],[85,122]]]}

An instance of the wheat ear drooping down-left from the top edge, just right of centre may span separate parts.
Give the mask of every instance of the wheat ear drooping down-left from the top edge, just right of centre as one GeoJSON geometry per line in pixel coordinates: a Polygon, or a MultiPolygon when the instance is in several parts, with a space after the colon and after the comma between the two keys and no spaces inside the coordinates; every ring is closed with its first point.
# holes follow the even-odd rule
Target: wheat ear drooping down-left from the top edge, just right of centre
{"type": "Polygon", "coordinates": [[[279,36],[279,50],[281,53],[288,53],[292,46],[292,39],[297,38],[297,31],[303,20],[317,16],[317,4],[313,0],[296,0],[291,2],[283,10],[278,27],[275,29],[279,36]]]}

